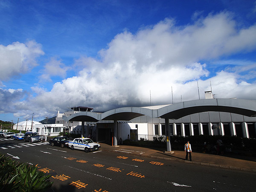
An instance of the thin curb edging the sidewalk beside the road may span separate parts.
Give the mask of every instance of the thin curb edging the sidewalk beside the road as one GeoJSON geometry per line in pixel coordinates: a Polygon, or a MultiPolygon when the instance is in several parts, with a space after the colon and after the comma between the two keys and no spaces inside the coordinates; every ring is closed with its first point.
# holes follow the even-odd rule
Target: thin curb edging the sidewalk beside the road
{"type": "MultiPolygon", "coordinates": [[[[104,151],[112,151],[112,152],[121,152],[125,153],[122,151],[113,151],[109,149],[102,149],[104,151]]],[[[247,168],[240,168],[240,167],[233,167],[233,166],[224,166],[224,165],[218,165],[218,164],[212,164],[212,163],[202,163],[202,162],[197,162],[197,161],[186,161],[186,160],[179,160],[179,159],[173,159],[173,158],[168,158],[168,157],[159,157],[159,156],[154,156],[154,155],[144,155],[144,154],[134,154],[130,153],[131,155],[136,155],[136,156],[143,156],[143,157],[150,157],[150,158],[155,158],[155,159],[163,159],[163,160],[170,160],[170,161],[178,161],[182,163],[192,163],[196,165],[202,165],[202,166],[210,166],[210,167],[219,167],[219,168],[224,168],[224,169],[233,169],[233,170],[240,170],[240,171],[247,171],[247,172],[256,172],[256,169],[247,169],[247,168]]]]}

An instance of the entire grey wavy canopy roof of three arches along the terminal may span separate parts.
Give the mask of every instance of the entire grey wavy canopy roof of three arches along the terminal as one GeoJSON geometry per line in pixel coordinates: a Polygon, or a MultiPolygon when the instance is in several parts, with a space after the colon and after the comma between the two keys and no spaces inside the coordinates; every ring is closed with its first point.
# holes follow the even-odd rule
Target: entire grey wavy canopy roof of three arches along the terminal
{"type": "Polygon", "coordinates": [[[179,119],[194,113],[221,111],[237,113],[244,116],[256,116],[256,101],[245,99],[201,99],[167,105],[158,109],[125,107],[105,113],[79,112],[63,116],[65,121],[98,122],[99,120],[129,121],[138,116],[154,118],[179,119]]]}

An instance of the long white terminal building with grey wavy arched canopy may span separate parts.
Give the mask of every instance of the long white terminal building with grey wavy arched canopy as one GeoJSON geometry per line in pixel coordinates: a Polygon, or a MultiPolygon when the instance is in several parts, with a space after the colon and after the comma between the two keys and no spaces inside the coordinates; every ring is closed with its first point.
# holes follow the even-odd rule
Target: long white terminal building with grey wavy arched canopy
{"type": "MultiPolygon", "coordinates": [[[[207,98],[207,96],[206,96],[207,98]]],[[[92,108],[59,115],[66,129],[113,145],[127,138],[153,140],[172,135],[227,135],[256,138],[256,101],[245,99],[201,99],[171,105],[117,108],[105,113],[92,108]],[[89,110],[90,109],[90,110],[89,110]],[[72,127],[72,123],[78,123],[72,127]]],[[[56,119],[57,121],[57,119],[56,119]]]]}

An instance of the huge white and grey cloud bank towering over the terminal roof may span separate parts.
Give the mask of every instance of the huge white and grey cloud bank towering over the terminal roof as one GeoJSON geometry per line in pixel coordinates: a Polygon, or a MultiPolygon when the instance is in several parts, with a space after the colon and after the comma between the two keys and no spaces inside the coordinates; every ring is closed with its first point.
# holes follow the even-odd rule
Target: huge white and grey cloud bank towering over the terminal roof
{"type": "MultiPolygon", "coordinates": [[[[55,83],[50,91],[33,87],[37,96],[19,104],[29,103],[41,116],[47,112],[54,115],[70,105],[106,111],[149,105],[151,91],[152,105],[162,105],[172,103],[172,88],[174,102],[180,102],[181,95],[183,101],[198,99],[197,82],[204,98],[204,91],[210,90],[209,81],[216,98],[252,99],[256,84],[248,83],[241,71],[230,68],[211,74],[209,64],[202,61],[255,48],[256,25],[239,29],[229,12],[209,14],[186,26],[165,19],[136,34],[117,34],[108,48],[99,51],[99,58],[75,60],[77,76],[55,83]]],[[[61,65],[52,60],[45,69],[57,66],[64,76],[61,65]]],[[[57,75],[53,72],[49,76],[57,75]]]]}

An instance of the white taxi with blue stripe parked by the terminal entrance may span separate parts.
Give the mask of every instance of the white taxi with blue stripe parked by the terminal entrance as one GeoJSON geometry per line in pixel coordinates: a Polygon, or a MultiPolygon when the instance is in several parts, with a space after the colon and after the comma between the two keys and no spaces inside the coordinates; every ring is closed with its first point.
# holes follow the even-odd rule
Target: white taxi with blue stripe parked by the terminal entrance
{"type": "Polygon", "coordinates": [[[73,141],[68,142],[68,146],[74,149],[84,150],[85,152],[99,150],[99,143],[94,143],[90,138],[76,138],[73,141]]]}

